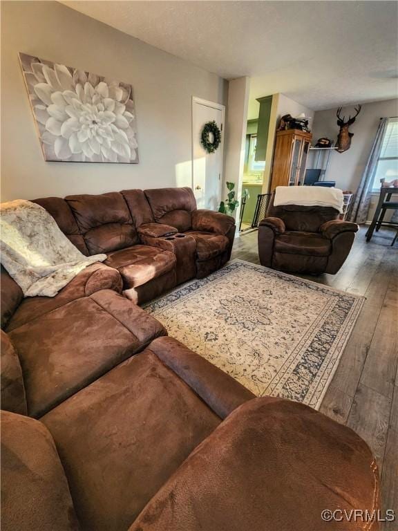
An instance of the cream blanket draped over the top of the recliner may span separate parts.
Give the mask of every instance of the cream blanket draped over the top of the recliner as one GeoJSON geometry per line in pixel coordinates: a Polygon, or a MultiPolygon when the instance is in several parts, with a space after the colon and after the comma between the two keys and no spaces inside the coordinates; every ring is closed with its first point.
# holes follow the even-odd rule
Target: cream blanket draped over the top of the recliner
{"type": "Polygon", "coordinates": [[[302,205],[304,207],[333,207],[343,212],[343,192],[339,188],[322,186],[277,186],[274,206],[302,205]]]}

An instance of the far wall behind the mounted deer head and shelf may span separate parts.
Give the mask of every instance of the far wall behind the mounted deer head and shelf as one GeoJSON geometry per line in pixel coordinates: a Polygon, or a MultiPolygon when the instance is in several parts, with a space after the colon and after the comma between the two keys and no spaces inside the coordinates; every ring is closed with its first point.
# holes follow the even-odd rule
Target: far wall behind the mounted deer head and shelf
{"type": "MultiPolygon", "coordinates": [[[[313,142],[316,143],[321,137],[330,138],[336,142],[339,133],[336,117],[337,109],[317,111],[312,129],[313,142]]],[[[354,114],[353,107],[345,107],[343,115],[354,114]]],[[[336,186],[343,190],[357,191],[361,181],[363,170],[368,162],[370,149],[375,139],[379,120],[383,116],[398,115],[398,100],[386,100],[383,102],[366,103],[362,105],[361,113],[350,127],[354,133],[351,147],[344,153],[332,151],[326,180],[335,180],[336,186]]]]}

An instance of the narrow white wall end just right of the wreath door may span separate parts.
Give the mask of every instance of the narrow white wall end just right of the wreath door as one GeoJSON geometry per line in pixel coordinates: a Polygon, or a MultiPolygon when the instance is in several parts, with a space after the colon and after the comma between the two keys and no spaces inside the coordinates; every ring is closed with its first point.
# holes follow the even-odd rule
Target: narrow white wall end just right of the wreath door
{"type": "MultiPolygon", "coordinates": [[[[245,164],[245,140],[247,127],[247,106],[249,103],[249,78],[239,77],[229,82],[227,136],[225,137],[225,178],[222,199],[227,194],[225,183],[235,183],[236,197],[240,201],[245,164]]],[[[235,218],[239,219],[240,207],[235,218]]]]}

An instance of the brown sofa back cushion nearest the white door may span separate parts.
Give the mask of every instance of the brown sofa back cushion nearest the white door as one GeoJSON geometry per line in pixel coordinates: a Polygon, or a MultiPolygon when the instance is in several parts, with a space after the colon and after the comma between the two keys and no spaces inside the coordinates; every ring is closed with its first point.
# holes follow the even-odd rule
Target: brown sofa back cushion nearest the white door
{"type": "Polygon", "coordinates": [[[191,188],[155,188],[144,192],[155,221],[176,227],[179,232],[191,228],[191,212],[196,210],[191,188]]]}

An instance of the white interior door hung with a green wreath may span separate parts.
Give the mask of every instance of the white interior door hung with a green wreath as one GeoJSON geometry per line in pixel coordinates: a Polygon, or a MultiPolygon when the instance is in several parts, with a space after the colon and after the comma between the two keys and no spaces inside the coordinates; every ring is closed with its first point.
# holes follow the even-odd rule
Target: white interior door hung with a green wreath
{"type": "Polygon", "coordinates": [[[198,208],[217,210],[221,200],[222,158],[224,153],[225,106],[192,98],[192,185],[198,208]],[[200,143],[206,122],[214,120],[221,131],[220,146],[207,153],[200,143]]]}

